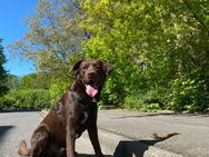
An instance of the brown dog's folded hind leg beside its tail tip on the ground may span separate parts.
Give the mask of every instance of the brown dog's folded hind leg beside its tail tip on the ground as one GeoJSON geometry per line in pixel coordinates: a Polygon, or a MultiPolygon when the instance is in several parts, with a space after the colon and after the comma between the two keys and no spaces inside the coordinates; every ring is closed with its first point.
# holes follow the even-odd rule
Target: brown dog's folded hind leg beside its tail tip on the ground
{"type": "Polygon", "coordinates": [[[49,141],[49,129],[47,125],[41,124],[34,130],[31,137],[31,157],[46,156],[46,146],[49,141]]]}

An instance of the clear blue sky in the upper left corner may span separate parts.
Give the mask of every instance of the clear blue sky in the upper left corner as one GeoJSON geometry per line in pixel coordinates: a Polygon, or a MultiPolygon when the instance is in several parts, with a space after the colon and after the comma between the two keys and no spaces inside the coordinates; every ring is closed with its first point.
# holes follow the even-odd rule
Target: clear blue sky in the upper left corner
{"type": "Polygon", "coordinates": [[[3,53],[8,60],[4,68],[16,76],[24,76],[36,71],[32,62],[28,60],[20,62],[19,59],[11,58],[7,46],[23,37],[28,30],[23,19],[36,12],[37,3],[38,0],[0,1],[0,38],[3,39],[0,45],[4,48],[3,53]]]}

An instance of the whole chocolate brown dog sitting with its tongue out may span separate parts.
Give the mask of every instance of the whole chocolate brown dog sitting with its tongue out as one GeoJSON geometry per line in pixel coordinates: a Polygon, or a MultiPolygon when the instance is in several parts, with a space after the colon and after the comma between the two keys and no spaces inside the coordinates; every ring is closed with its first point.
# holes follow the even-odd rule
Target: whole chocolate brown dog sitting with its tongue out
{"type": "Polygon", "coordinates": [[[30,157],[76,157],[74,141],[86,129],[97,157],[103,157],[98,140],[97,101],[112,65],[100,60],[80,60],[72,68],[77,78],[52,107],[18,154],[30,157]]]}

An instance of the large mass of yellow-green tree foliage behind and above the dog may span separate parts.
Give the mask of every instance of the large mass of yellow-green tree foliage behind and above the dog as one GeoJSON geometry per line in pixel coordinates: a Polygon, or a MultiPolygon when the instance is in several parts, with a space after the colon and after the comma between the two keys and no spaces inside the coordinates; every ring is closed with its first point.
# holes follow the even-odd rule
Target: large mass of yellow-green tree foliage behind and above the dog
{"type": "Polygon", "coordinates": [[[101,105],[158,109],[142,106],[153,98],[168,109],[207,110],[208,10],[207,0],[44,0],[12,48],[49,76],[52,101],[71,80],[69,67],[84,57],[115,65],[101,105]]]}

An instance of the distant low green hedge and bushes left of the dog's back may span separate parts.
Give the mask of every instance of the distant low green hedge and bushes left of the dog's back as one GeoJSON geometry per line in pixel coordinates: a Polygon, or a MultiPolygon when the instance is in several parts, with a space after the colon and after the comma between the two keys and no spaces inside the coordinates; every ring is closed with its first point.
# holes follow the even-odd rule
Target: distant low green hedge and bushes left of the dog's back
{"type": "Polygon", "coordinates": [[[67,89],[67,84],[59,80],[51,82],[46,78],[47,73],[31,73],[22,78],[9,75],[7,86],[10,90],[0,97],[0,110],[51,107],[67,89]]]}

